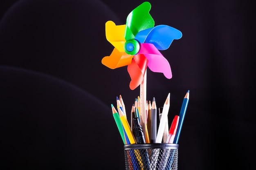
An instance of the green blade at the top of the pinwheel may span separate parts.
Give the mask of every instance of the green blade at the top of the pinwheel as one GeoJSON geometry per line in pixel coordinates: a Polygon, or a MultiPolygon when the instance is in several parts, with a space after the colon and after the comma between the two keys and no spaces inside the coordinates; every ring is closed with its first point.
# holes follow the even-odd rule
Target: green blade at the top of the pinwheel
{"type": "Polygon", "coordinates": [[[132,10],[126,18],[126,29],[124,33],[125,40],[135,38],[135,35],[142,30],[152,28],[155,21],[149,14],[151,4],[143,2],[137,8],[132,10]]]}

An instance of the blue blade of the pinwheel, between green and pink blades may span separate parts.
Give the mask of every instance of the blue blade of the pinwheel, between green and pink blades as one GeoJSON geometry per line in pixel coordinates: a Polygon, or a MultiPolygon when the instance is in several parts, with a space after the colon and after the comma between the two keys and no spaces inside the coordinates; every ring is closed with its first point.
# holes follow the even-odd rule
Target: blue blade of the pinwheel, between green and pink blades
{"type": "Polygon", "coordinates": [[[142,30],[135,36],[140,43],[154,44],[158,50],[169,48],[173,40],[182,37],[182,32],[168,25],[157,25],[153,28],[142,30]]]}

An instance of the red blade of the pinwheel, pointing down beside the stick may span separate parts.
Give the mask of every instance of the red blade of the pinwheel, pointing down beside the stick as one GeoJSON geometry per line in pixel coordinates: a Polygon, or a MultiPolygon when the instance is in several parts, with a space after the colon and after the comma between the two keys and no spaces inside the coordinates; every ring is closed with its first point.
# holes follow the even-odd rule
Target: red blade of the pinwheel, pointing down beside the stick
{"type": "Polygon", "coordinates": [[[134,90],[143,81],[143,77],[148,65],[148,60],[143,54],[133,56],[131,64],[127,66],[127,71],[130,75],[130,89],[134,90]]]}

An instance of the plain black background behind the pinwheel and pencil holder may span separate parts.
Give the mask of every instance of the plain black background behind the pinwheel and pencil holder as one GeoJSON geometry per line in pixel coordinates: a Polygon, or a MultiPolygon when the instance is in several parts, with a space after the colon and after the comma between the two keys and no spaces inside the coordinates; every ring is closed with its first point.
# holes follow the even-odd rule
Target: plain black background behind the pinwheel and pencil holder
{"type": "MultiPolygon", "coordinates": [[[[0,169],[124,170],[110,104],[139,95],[126,67],[101,64],[105,23],[144,1],[0,1],[0,169]]],[[[190,90],[179,170],[255,169],[255,7],[248,0],[150,0],[155,25],[182,32],[161,51],[173,78],[148,70],[147,99],[190,90]]]]}

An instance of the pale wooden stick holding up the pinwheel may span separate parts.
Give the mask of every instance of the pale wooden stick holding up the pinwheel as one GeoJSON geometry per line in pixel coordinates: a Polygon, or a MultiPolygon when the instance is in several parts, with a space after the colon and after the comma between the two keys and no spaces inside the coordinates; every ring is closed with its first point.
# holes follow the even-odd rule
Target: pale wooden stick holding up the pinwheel
{"type": "MultiPolygon", "coordinates": [[[[146,129],[146,91],[147,91],[147,70],[145,71],[144,78],[142,83],[140,84],[140,114],[139,114],[139,119],[140,119],[140,124],[142,126],[142,130],[144,133],[145,139],[147,139],[147,129],[146,129]]],[[[146,140],[147,143],[147,140],[146,140]]]]}

